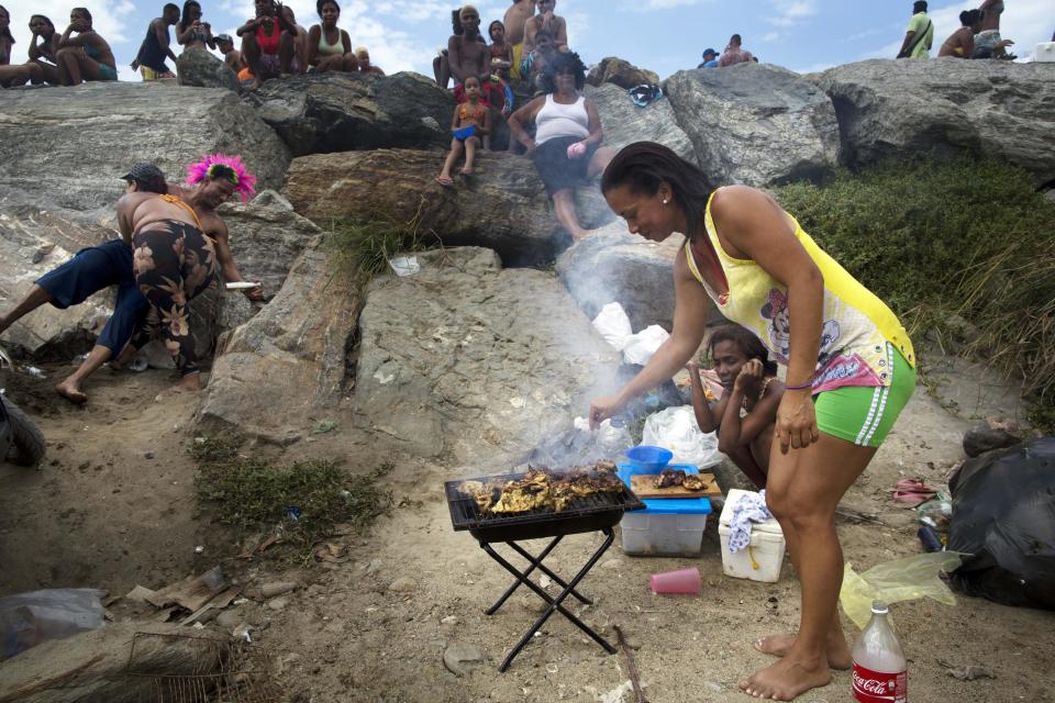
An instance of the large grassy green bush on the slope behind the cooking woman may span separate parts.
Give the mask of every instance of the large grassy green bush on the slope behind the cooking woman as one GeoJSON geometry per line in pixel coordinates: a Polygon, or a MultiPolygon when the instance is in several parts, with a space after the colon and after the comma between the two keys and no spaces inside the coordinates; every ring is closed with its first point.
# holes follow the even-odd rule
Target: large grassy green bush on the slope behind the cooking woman
{"type": "Polygon", "coordinates": [[[910,334],[936,333],[1055,403],[1055,204],[1028,174],[932,158],[775,194],[910,334]]]}

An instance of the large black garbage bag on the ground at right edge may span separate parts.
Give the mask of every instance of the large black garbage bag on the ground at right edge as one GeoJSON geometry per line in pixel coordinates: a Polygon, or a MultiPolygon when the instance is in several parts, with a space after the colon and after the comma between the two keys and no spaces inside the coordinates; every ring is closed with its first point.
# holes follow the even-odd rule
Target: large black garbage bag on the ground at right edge
{"type": "Polygon", "coordinates": [[[949,577],[967,595],[1055,610],[1055,437],[964,461],[948,482],[946,549],[966,557],[949,577]]]}

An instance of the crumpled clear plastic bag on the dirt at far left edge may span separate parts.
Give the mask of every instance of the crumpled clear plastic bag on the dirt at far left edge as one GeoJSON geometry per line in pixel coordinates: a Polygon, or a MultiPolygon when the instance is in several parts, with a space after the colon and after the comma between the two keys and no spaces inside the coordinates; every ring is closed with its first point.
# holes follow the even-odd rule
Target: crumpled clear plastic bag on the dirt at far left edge
{"type": "Polygon", "coordinates": [[[0,598],[0,658],[103,625],[103,591],[47,589],[0,598]]]}

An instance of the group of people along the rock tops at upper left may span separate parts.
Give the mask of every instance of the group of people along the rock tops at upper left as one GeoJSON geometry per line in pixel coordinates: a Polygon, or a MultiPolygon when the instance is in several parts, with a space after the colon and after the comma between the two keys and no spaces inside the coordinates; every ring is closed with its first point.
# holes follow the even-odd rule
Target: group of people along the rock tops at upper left
{"type": "MultiPolygon", "coordinates": [[[[181,52],[193,48],[220,52],[224,64],[237,74],[243,85],[254,88],[270,78],[306,72],[385,75],[370,63],[369,51],[365,46],[353,48],[348,33],[337,26],[341,18],[337,0],[318,0],[319,23],[307,30],[297,23],[292,9],[277,0],[255,0],[254,5],[253,19],[232,37],[212,33],[198,0],[186,0],[182,10],[179,5],[166,4],[160,16],[147,25],[132,68],[138,70],[145,81],[176,78],[167,64],[176,62],[175,35],[181,52]]],[[[70,11],[69,25],[62,33],[48,18],[32,15],[32,43],[24,64],[11,63],[14,37],[10,23],[11,14],[0,5],[0,87],[76,86],[82,81],[118,79],[113,51],[92,29],[91,12],[86,8],[70,11]]]]}

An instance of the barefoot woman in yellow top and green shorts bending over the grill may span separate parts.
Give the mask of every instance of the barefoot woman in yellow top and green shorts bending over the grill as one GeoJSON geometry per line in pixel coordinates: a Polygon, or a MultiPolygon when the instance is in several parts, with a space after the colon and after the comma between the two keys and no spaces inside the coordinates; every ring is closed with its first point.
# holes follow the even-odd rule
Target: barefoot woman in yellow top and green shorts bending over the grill
{"type": "Polygon", "coordinates": [[[802,589],[798,635],[758,640],[776,663],[740,682],[790,701],[851,665],[836,610],[843,555],[835,507],[875,456],[915,386],[912,343],[892,312],[810,238],[768,194],[713,189],[665,146],[638,142],[604,170],[601,189],[632,233],[687,235],[675,260],[674,333],[619,393],[598,398],[590,424],[669,379],[699,349],[711,301],[787,367],[766,503],[802,589]]]}

